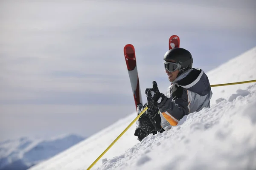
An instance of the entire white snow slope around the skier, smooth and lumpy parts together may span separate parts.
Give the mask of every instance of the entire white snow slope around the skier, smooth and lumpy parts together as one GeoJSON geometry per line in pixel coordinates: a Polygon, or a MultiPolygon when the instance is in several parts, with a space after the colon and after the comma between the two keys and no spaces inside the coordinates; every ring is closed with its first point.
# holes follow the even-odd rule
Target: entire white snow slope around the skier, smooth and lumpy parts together
{"type": "MultiPolygon", "coordinates": [[[[207,73],[211,85],[256,79],[256,47],[207,73]]],[[[92,169],[256,169],[256,83],[212,88],[211,108],[138,142],[135,124],[92,169]]],[[[136,113],[30,170],[86,170],[136,113]]]]}

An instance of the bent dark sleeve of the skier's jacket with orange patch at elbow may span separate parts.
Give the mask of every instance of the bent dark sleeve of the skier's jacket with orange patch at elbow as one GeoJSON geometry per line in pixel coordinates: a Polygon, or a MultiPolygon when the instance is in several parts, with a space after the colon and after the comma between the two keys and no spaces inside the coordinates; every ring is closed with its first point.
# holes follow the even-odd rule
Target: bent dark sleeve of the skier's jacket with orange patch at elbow
{"type": "Polygon", "coordinates": [[[176,126],[183,116],[189,114],[189,96],[187,89],[180,86],[175,85],[170,91],[170,97],[164,96],[158,108],[164,118],[172,126],[176,126]]]}

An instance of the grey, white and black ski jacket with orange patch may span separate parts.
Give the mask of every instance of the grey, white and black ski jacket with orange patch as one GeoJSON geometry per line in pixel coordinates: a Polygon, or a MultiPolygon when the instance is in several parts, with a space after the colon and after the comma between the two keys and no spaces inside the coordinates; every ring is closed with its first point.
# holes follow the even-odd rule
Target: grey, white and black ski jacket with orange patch
{"type": "Polygon", "coordinates": [[[191,68],[181,74],[158,105],[161,127],[169,130],[183,116],[210,107],[212,91],[207,75],[201,69],[191,68]]]}

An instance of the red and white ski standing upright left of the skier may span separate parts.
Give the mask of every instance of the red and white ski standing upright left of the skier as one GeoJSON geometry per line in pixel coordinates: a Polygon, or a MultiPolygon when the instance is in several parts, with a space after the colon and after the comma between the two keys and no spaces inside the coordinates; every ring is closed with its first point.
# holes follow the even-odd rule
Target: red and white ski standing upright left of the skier
{"type": "Polygon", "coordinates": [[[124,47],[125,62],[131,82],[131,89],[134,95],[134,102],[137,111],[137,105],[142,104],[139,75],[137,71],[136,55],[134,46],[127,44],[124,47]]]}

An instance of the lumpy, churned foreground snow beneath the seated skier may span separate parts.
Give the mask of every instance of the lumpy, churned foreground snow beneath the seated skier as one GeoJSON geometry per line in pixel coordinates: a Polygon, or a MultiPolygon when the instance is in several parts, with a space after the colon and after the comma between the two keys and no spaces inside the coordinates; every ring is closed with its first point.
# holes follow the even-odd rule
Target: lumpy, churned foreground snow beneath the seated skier
{"type": "Polygon", "coordinates": [[[240,94],[189,114],[182,125],[146,137],[97,170],[255,170],[256,83],[240,94]]]}

